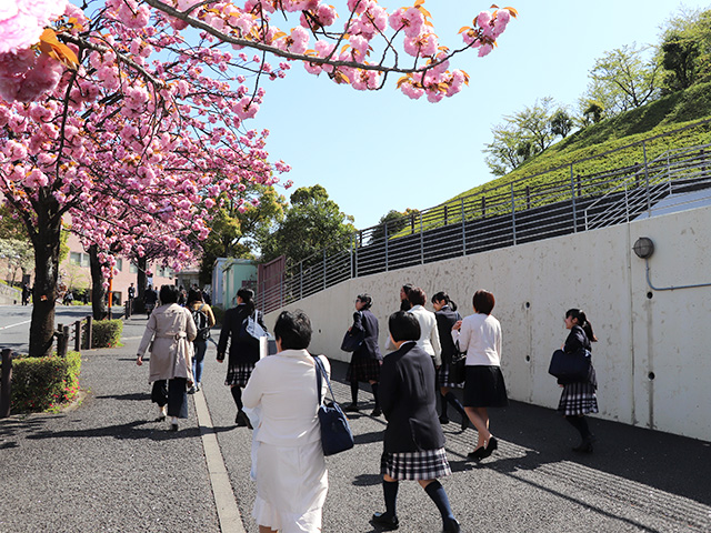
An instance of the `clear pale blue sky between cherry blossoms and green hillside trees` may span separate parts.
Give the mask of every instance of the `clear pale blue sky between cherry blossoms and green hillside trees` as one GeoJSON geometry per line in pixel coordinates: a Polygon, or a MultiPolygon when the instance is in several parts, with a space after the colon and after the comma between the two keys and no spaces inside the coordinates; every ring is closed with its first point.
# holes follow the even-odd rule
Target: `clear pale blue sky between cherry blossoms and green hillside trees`
{"type": "MultiPolygon", "coordinates": [[[[341,7],[344,2],[334,2],[341,7]]],[[[403,2],[381,0],[391,9],[403,2]]],[[[683,7],[708,9],[709,0],[683,7]]],[[[491,3],[428,0],[440,43],[459,48],[462,26],[491,3]]],[[[485,58],[459,56],[470,86],[439,103],[410,100],[391,77],[380,91],[337,86],[293,63],[286,79],[264,82],[267,95],[252,128],[267,128],[272,159],[283,159],[293,188],[323,185],[359,229],[391,209],[427,209],[493,177],[482,149],[503,117],[553,97],[571,110],[588,71],[605,51],[658,43],[660,27],[679,12],[675,0],[511,0],[519,11],[485,58]]],[[[289,29],[296,24],[287,24],[289,29]]],[[[277,61],[273,61],[277,64],[277,61]]]]}

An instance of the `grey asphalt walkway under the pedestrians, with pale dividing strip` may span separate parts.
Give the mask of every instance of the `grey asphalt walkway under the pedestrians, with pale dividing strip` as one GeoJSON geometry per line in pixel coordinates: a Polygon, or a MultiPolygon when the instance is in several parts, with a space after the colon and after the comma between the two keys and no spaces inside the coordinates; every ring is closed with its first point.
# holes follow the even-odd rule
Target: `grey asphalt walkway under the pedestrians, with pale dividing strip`
{"type": "MultiPolygon", "coordinates": [[[[220,523],[216,479],[232,487],[231,494],[218,489],[218,500],[234,497],[243,530],[258,531],[251,432],[234,426],[224,364],[214,361],[211,345],[203,393],[191,396],[190,419],[171,433],[168,423],[154,422],[148,368],[134,362],[144,324],[144,316],[127,322],[123,348],[82,353],[87,396],[77,409],[0,420],[0,532],[240,531],[229,513],[220,523]],[[196,403],[207,406],[209,421],[204,412],[198,421],[196,403]],[[211,442],[210,466],[203,435],[211,442]],[[214,466],[216,449],[226,470],[214,466]]],[[[346,365],[333,368],[334,392],[347,401],[346,365]]],[[[371,400],[369,388],[360,394],[371,400]]],[[[327,460],[324,532],[380,531],[369,519],[382,510],[384,420],[369,412],[351,418],[356,449],[327,460]]],[[[442,483],[462,531],[711,531],[710,443],[593,420],[598,450],[579,456],[570,451],[572,428],[551,410],[512,402],[491,414],[500,450],[481,464],[465,461],[475,433],[444,426],[454,474],[442,483]]],[[[398,503],[399,531],[441,531],[434,505],[415,483],[401,483],[398,503]]]]}

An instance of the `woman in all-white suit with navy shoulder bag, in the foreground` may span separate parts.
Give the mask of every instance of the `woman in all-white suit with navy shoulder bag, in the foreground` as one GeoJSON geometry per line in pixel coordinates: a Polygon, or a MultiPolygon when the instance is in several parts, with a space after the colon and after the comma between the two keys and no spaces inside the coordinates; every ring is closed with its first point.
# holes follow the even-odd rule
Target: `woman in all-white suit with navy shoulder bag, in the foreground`
{"type": "MultiPolygon", "coordinates": [[[[306,313],[282,312],[274,325],[278,352],[254,365],[244,388],[244,406],[259,413],[252,516],[260,533],[321,531],[328,471],[318,418],[319,370],[307,350],[311,333],[306,313]]],[[[330,375],[328,360],[318,358],[330,375]]],[[[322,380],[321,398],[326,393],[322,380]]]]}

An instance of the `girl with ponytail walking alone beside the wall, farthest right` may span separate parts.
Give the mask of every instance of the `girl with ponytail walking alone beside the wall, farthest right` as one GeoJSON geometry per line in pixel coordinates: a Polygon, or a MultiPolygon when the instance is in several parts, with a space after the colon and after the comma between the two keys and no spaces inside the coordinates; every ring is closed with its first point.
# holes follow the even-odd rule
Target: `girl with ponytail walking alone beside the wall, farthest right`
{"type": "MultiPolygon", "coordinates": [[[[574,353],[578,350],[592,350],[592,343],[598,338],[592,332],[592,324],[588,321],[585,313],[580,309],[569,309],[565,312],[565,329],[570,330],[562,350],[565,353],[574,353]]],[[[598,412],[598,378],[595,369],[590,364],[588,378],[584,381],[563,383],[560,379],[558,384],[563,388],[558,403],[558,412],[565,416],[565,420],[578,430],[582,441],[573,447],[578,453],[592,453],[595,435],[592,434],[588,425],[585,414],[598,412]]]]}

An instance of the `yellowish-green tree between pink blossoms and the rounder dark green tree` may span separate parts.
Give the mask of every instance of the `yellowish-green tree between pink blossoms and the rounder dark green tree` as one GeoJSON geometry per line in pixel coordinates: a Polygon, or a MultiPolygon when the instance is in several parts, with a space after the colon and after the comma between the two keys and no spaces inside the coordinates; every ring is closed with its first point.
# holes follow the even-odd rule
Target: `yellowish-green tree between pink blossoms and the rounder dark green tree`
{"type": "Polygon", "coordinates": [[[259,242],[284,218],[287,201],[272,187],[252,185],[247,191],[253,202],[223,198],[222,207],[212,218],[210,235],[201,242],[200,281],[203,284],[212,282],[216,259],[256,258],[260,252],[259,242]]]}

